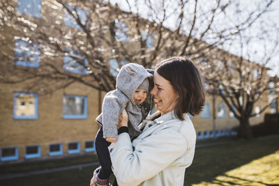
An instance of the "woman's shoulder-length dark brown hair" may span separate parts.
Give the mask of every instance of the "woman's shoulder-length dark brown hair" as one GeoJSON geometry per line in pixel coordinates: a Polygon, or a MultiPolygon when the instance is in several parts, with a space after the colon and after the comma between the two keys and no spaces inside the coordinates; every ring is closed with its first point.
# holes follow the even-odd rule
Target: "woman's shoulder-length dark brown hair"
{"type": "Polygon", "coordinates": [[[167,79],[179,93],[174,114],[183,121],[183,113],[193,116],[202,111],[205,102],[205,84],[192,61],[182,56],[173,56],[156,64],[156,72],[167,79]]]}

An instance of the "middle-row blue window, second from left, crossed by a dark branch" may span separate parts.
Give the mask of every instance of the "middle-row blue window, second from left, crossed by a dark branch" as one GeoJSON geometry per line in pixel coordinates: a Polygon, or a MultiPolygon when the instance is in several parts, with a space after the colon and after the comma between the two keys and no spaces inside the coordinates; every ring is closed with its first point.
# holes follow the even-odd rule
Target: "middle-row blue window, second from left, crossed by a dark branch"
{"type": "Polygon", "coordinates": [[[88,61],[85,59],[85,56],[80,55],[80,52],[74,50],[66,49],[65,51],[63,69],[77,74],[88,74],[86,68],[88,61]]]}

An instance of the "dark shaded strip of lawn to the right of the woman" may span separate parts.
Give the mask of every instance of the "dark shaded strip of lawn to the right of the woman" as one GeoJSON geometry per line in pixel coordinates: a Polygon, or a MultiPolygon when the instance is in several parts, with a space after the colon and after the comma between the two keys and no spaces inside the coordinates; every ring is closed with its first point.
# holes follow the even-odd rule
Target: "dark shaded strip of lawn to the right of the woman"
{"type": "Polygon", "coordinates": [[[217,176],[225,175],[227,171],[274,153],[276,150],[279,150],[279,135],[197,148],[193,164],[186,169],[184,185],[202,182],[223,185],[214,183],[217,176]]]}

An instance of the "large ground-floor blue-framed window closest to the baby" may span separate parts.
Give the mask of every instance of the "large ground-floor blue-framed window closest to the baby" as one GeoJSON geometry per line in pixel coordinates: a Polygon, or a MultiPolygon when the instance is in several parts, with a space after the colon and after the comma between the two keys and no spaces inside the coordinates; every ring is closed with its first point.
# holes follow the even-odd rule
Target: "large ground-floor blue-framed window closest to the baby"
{"type": "Polygon", "coordinates": [[[63,95],[63,118],[87,118],[87,98],[81,95],[63,95]]]}

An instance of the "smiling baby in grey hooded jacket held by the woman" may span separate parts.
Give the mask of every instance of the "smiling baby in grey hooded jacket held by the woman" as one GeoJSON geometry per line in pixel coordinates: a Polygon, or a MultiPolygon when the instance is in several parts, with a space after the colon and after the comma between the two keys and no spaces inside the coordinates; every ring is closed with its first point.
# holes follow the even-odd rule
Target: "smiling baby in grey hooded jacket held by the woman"
{"type": "Polygon", "coordinates": [[[126,109],[129,122],[128,133],[133,139],[140,134],[138,125],[146,118],[151,108],[151,86],[153,75],[142,65],[128,63],[123,65],[116,77],[116,89],[105,95],[102,113],[96,118],[101,127],[96,135],[96,153],[100,162],[97,169],[96,185],[108,185],[112,173],[112,162],[107,149],[117,139],[119,116],[126,109]]]}

